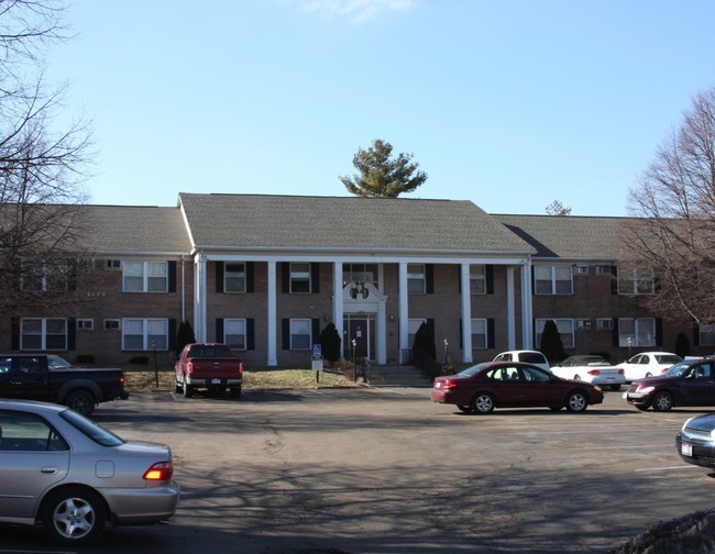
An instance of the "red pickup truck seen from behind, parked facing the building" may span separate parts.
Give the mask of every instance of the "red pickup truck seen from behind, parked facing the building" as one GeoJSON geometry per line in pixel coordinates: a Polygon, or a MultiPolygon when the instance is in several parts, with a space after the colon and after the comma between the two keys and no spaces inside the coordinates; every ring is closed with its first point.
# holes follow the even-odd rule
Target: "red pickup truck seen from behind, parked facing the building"
{"type": "Polygon", "coordinates": [[[176,392],[184,392],[186,398],[190,398],[198,388],[207,389],[210,394],[228,390],[231,396],[241,396],[243,364],[228,344],[187,344],[174,369],[176,392]]]}

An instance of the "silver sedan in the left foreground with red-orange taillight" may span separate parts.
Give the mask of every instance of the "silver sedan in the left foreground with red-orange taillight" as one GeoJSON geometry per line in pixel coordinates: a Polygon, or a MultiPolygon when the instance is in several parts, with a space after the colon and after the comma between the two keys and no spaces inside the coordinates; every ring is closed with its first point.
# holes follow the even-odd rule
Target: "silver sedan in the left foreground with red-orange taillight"
{"type": "Polygon", "coordinates": [[[173,470],[164,444],[124,441],[64,406],[0,399],[0,522],[89,544],[107,524],[168,519],[173,470]]]}

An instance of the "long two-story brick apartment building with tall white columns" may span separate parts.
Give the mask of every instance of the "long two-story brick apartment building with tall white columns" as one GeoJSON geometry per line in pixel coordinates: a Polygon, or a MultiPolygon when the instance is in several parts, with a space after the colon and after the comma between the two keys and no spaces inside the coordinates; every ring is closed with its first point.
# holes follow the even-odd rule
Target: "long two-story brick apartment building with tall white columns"
{"type": "MultiPolygon", "coordinates": [[[[624,219],[487,214],[469,201],[182,193],[176,207],[85,207],[100,284],[63,313],[6,318],[2,348],[124,363],[170,358],[176,330],[246,365],[309,366],[332,322],[345,356],[399,363],[425,322],[438,357],[532,348],[556,321],[570,354],[618,362],[686,333],[640,307],[652,275],[618,272],[624,219]],[[444,352],[442,352],[444,348],[444,352]]],[[[82,282],[78,281],[78,290],[82,282]]]]}

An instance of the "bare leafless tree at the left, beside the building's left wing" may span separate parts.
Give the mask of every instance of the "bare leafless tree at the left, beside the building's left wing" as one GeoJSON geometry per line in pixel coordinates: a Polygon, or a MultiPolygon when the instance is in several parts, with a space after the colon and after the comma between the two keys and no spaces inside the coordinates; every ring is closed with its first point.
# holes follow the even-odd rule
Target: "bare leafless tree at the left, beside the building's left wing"
{"type": "MultiPolygon", "coordinates": [[[[64,87],[44,81],[44,48],[66,38],[58,0],[0,0],[0,307],[75,302],[88,123],[57,130],[64,87]]],[[[84,262],[78,262],[78,261],[84,262]]]]}

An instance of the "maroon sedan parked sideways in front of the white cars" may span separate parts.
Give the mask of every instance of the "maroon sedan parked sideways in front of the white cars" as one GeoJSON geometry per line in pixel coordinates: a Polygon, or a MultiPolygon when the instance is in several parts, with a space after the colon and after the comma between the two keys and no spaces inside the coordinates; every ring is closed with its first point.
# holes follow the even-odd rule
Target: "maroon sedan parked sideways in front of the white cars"
{"type": "Polygon", "coordinates": [[[540,406],[582,412],[588,405],[603,402],[603,392],[590,383],[561,379],[529,364],[491,362],[437,377],[430,398],[457,405],[463,412],[540,406]]]}

